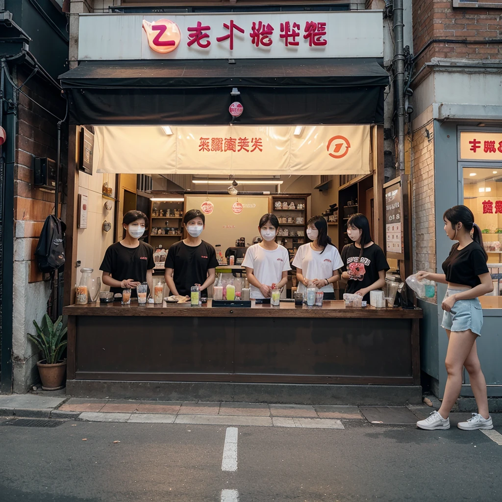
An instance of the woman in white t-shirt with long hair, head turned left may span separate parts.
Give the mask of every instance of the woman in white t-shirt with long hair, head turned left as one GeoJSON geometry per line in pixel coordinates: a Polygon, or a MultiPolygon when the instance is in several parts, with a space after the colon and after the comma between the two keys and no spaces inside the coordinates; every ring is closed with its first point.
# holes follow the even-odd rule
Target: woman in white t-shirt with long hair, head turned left
{"type": "Polygon", "coordinates": [[[325,300],[334,300],[333,283],[340,279],[338,269],[343,267],[343,262],[328,235],[328,224],[324,216],[312,216],[307,221],[307,237],[312,242],[302,244],[293,259],[298,292],[305,294],[311,281],[324,292],[325,300]]]}

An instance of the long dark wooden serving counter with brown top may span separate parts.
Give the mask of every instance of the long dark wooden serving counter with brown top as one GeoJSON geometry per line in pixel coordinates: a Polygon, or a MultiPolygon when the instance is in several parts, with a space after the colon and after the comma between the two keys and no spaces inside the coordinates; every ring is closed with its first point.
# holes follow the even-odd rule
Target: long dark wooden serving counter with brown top
{"type": "Polygon", "coordinates": [[[209,301],[63,313],[69,380],[420,385],[420,309],[209,301]]]}

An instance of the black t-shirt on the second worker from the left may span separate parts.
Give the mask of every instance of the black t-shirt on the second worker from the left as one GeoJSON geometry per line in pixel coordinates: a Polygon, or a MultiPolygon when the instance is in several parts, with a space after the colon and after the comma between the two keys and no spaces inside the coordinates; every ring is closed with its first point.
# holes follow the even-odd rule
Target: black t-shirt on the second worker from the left
{"type": "MultiPolygon", "coordinates": [[[[173,269],[173,279],[180,295],[190,295],[190,288],[204,284],[207,271],[218,266],[214,247],[204,240],[198,246],[187,246],[182,240],[173,244],[165,262],[166,269],[173,269]]],[[[207,297],[207,289],[201,291],[207,297]]]]}

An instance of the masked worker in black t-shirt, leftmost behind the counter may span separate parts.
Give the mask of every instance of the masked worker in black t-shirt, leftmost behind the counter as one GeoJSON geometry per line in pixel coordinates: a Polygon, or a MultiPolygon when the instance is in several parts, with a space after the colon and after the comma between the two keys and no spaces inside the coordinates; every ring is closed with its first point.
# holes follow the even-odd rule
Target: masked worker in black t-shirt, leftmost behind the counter
{"type": "Polygon", "coordinates": [[[99,270],[103,271],[102,281],[113,293],[122,293],[122,289],[132,289],[147,282],[152,291],[152,271],[155,267],[154,249],[140,240],[147,228],[148,217],[141,211],[128,211],[122,219],[125,236],[106,249],[99,270]]]}

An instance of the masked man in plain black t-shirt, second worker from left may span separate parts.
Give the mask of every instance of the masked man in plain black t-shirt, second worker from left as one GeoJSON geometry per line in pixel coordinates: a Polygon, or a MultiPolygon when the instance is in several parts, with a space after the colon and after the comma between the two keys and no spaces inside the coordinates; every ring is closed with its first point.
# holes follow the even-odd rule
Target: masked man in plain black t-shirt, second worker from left
{"type": "Polygon", "coordinates": [[[207,298],[207,288],[214,283],[218,261],[214,247],[200,238],[205,223],[198,209],[183,216],[188,237],[169,248],[165,262],[164,277],[172,295],[189,296],[190,288],[200,285],[200,296],[207,298]]]}

